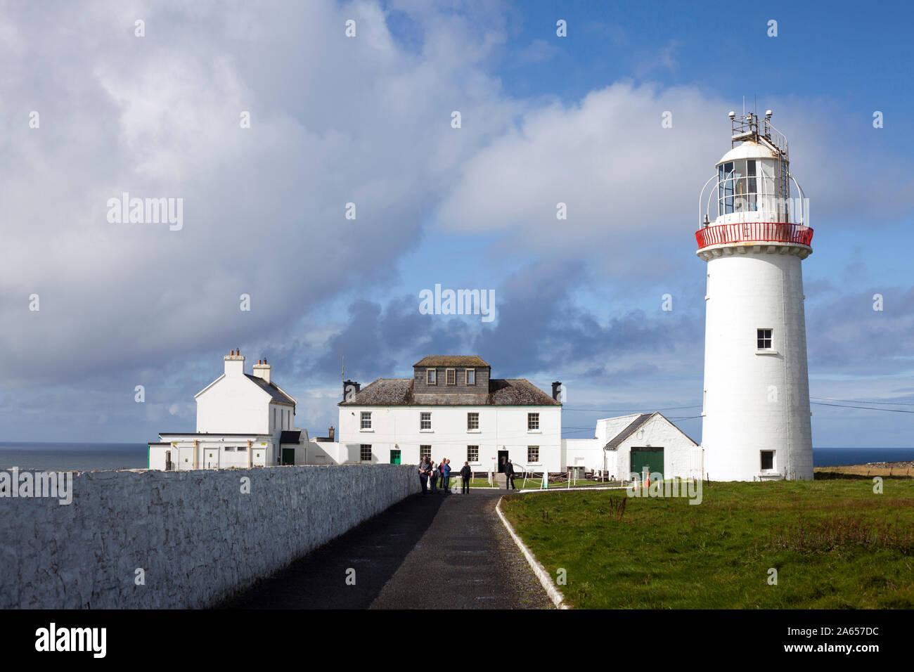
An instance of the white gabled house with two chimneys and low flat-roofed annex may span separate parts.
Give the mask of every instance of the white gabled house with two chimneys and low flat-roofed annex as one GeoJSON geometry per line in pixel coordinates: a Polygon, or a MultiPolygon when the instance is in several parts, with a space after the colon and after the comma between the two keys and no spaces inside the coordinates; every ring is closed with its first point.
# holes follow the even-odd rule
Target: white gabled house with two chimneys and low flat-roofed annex
{"type": "Polygon", "coordinates": [[[170,470],[306,464],[308,435],[295,425],[295,404],[258,360],[245,373],[232,350],[225,371],[197,392],[197,432],[161,432],[149,443],[149,468],[170,470]]]}

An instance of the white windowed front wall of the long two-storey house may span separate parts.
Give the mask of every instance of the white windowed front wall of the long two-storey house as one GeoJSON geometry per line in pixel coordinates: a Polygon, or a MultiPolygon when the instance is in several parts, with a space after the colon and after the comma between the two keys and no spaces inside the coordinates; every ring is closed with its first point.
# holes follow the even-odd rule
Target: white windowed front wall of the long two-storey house
{"type": "Polygon", "coordinates": [[[390,450],[399,447],[402,464],[419,464],[420,445],[431,446],[431,457],[451,460],[460,469],[467,459],[467,446],[479,446],[475,471],[497,471],[499,450],[508,451],[514,464],[540,472],[562,472],[560,406],[408,406],[356,407],[339,410],[339,459],[346,464],[359,462],[360,445],[372,447],[372,462],[389,463],[390,450]],[[362,430],[360,413],[370,411],[370,431],[362,430]],[[420,412],[431,412],[431,431],[420,431],[420,412]],[[467,412],[479,413],[479,431],[467,430],[467,412]],[[539,431],[528,432],[527,413],[539,413],[539,431]],[[527,460],[527,446],[539,446],[539,460],[527,460]]]}

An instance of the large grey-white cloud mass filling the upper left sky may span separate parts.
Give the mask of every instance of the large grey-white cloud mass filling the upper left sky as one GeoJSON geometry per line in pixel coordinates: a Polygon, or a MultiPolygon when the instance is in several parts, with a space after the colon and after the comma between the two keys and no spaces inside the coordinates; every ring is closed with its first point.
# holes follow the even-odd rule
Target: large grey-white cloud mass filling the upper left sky
{"type": "Polygon", "coordinates": [[[17,327],[0,346],[19,354],[0,364],[9,384],[291,328],[388,275],[452,171],[514,114],[476,67],[499,30],[465,16],[419,13],[416,59],[367,2],[60,4],[50,23],[27,6],[5,12],[17,36],[2,54],[16,76],[0,83],[0,319],[17,327]],[[136,16],[146,37],[133,36],[136,16]],[[459,132],[455,108],[472,120],[459,132]],[[184,228],[109,223],[106,203],[124,192],[182,198],[184,228]],[[356,220],[344,219],[349,202],[356,220]]]}

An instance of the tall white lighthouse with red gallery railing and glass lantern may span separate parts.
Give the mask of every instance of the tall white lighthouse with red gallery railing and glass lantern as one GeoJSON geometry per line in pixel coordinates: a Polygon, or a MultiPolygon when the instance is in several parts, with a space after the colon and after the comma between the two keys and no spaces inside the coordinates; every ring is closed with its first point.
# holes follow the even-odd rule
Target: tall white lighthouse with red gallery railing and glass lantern
{"type": "Polygon", "coordinates": [[[771,111],[729,117],[730,150],[698,202],[697,255],[707,262],[704,471],[715,481],[812,479],[806,198],[771,111]]]}

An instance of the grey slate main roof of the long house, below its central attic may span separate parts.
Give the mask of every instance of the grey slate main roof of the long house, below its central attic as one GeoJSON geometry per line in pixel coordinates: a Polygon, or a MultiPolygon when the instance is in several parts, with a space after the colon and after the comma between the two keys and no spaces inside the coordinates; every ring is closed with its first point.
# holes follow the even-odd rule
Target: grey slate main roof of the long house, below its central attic
{"type": "Polygon", "coordinates": [[[485,392],[413,394],[412,382],[411,378],[379,378],[356,392],[348,400],[340,401],[338,405],[561,406],[559,401],[552,399],[546,392],[526,379],[490,379],[488,394],[485,392]]]}

